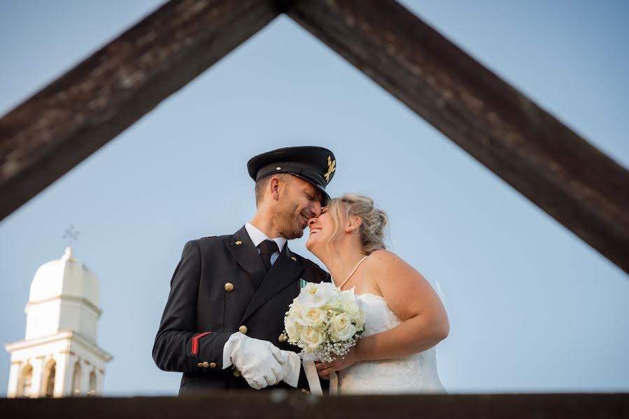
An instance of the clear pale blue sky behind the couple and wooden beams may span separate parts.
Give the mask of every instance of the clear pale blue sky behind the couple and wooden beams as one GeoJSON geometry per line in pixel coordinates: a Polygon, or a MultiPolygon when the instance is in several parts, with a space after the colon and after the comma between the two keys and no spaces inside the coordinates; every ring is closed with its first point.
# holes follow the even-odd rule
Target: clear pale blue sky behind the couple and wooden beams
{"type": "MultiPolygon", "coordinates": [[[[0,114],[159,3],[1,2],[0,114]]],[[[404,4],[629,167],[628,3],[404,4]]],[[[0,341],[24,337],[30,282],[72,223],[101,279],[106,394],[176,394],[150,349],[183,244],[248,221],[246,161],[290,145],[332,149],[332,195],[372,196],[390,248],[438,288],[448,391],[629,391],[628,275],[288,17],[0,222],[0,341]]],[[[3,352],[0,392],[8,370],[3,352]]]]}

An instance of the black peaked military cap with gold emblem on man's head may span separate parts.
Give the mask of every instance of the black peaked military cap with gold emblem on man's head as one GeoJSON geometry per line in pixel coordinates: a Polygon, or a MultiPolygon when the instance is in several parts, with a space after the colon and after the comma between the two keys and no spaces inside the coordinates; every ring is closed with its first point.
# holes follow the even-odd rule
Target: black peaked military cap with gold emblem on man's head
{"type": "Polygon", "coordinates": [[[334,153],[323,147],[286,147],[252,157],[247,163],[247,170],[255,182],[275,173],[290,173],[304,179],[321,191],[321,205],[327,205],[330,196],[325,186],[332,182],[337,160],[334,153]]]}

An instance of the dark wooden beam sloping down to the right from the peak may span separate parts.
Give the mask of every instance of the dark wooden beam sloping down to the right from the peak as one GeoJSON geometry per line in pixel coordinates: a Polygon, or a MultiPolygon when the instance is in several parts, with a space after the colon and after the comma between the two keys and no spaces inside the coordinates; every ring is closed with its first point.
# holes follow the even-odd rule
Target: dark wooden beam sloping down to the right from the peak
{"type": "Polygon", "coordinates": [[[292,19],[629,272],[627,170],[393,0],[287,5],[292,19]]]}

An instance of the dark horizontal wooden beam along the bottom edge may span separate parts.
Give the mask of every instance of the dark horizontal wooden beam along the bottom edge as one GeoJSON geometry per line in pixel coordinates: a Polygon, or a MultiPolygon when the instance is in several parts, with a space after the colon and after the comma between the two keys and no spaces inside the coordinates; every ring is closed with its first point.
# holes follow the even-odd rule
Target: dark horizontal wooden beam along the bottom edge
{"type": "Polygon", "coordinates": [[[197,397],[69,397],[0,399],[6,418],[627,418],[629,397],[619,394],[400,395],[309,397],[284,390],[209,392],[197,397]],[[211,414],[210,414],[211,413],[211,414]]]}

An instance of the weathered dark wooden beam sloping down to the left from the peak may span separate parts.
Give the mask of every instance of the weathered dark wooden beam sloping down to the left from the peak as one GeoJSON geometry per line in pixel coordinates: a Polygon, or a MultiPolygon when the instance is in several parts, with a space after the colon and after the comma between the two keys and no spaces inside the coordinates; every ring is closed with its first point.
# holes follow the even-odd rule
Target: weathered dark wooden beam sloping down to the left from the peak
{"type": "Polygon", "coordinates": [[[177,0],[0,119],[0,219],[280,13],[271,0],[177,0]]]}

